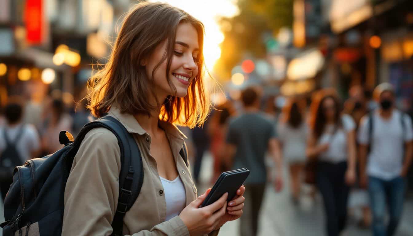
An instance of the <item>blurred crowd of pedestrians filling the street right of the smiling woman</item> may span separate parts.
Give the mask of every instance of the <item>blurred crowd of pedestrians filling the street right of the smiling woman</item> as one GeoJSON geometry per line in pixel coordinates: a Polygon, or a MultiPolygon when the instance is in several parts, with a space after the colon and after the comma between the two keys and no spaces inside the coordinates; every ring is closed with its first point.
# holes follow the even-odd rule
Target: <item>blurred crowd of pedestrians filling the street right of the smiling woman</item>
{"type": "Polygon", "coordinates": [[[358,226],[371,227],[374,236],[394,235],[411,186],[413,130],[409,114],[395,107],[392,85],[380,84],[374,92],[354,86],[344,102],[334,89],[262,100],[260,88],[247,88],[240,101],[216,107],[202,128],[190,131],[197,183],[208,149],[214,159],[209,185],[223,171],[251,170],[241,234],[257,235],[263,186],[273,180],[279,191],[282,166],[287,165],[294,205],[303,197],[303,183],[312,186],[305,193],[309,198],[318,192],[322,196],[326,235],[338,236],[345,229],[353,193],[365,196],[357,205],[363,212],[358,226]],[[268,174],[271,163],[274,174],[268,174]]]}

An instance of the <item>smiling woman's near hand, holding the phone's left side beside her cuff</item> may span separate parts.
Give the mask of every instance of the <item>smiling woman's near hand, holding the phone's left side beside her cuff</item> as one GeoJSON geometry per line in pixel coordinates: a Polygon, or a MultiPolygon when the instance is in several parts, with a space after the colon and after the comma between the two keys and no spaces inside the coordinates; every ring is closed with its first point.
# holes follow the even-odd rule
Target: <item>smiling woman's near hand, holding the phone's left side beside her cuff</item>
{"type": "Polygon", "coordinates": [[[214,229],[219,228],[218,226],[221,224],[227,208],[228,193],[222,195],[215,203],[198,208],[210,191],[211,188],[192,201],[179,214],[179,217],[187,226],[190,236],[209,234],[214,229]]]}

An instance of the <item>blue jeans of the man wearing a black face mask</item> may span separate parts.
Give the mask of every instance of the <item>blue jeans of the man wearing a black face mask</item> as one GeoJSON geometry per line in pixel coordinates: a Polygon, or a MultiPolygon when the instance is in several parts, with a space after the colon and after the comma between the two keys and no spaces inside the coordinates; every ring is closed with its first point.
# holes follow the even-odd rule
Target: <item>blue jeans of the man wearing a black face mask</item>
{"type": "Polygon", "coordinates": [[[403,211],[405,180],[399,176],[392,180],[368,177],[368,193],[373,212],[373,236],[392,236],[403,211]],[[389,225],[385,226],[386,203],[389,209],[389,225]]]}

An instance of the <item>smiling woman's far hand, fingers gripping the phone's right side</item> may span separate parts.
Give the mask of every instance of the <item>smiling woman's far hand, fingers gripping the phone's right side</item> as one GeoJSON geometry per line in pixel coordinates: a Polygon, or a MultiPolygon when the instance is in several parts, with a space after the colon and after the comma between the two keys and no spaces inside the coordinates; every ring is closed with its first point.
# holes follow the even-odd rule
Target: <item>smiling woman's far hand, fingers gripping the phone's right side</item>
{"type": "Polygon", "coordinates": [[[221,226],[223,226],[223,224],[225,224],[228,221],[233,221],[241,217],[245,201],[244,192],[244,186],[241,186],[237,190],[237,195],[235,195],[233,200],[230,201],[230,203],[228,204],[227,212],[222,217],[221,222],[219,222],[218,226],[214,230],[219,229],[221,226]]]}

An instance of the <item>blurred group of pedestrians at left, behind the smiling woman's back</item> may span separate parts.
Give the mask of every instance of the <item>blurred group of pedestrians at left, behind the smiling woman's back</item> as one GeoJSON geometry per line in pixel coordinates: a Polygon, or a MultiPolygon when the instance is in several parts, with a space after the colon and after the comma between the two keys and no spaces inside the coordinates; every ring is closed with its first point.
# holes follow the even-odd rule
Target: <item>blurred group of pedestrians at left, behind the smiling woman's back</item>
{"type": "Polygon", "coordinates": [[[66,105],[62,98],[26,101],[20,96],[8,98],[0,110],[0,189],[2,199],[12,183],[13,169],[26,160],[43,157],[62,148],[60,131],[76,135],[92,118],[85,101],[66,105]]]}

